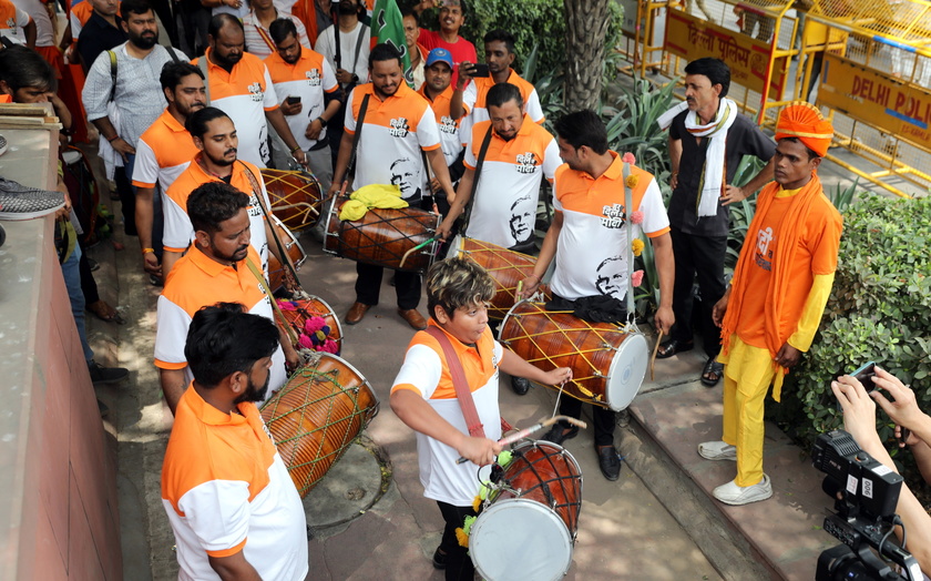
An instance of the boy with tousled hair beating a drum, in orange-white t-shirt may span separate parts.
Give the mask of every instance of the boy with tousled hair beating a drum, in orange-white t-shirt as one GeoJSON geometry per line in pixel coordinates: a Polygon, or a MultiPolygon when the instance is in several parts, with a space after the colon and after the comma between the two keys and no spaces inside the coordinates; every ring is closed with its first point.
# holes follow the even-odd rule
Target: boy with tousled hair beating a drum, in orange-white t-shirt
{"type": "Polygon", "coordinates": [[[391,409],[417,431],[423,496],[437,501],[446,521],[433,567],[446,569],[447,580],[471,581],[474,574],[456,529],[466,517],[475,514],[472,500],[478,467],[491,463],[501,451],[497,441],[501,438],[499,367],[509,375],[548,385],[572,377],[567,367],[542,371],[494,340],[485,307],[492,296],[494,282],[471,261],[449,258],[433,264],[427,274],[428,325],[440,329],[458,356],[485,437],[469,435],[443,346],[431,332],[413,336],[391,388],[391,409]],[[460,456],[469,461],[457,463],[460,456]]]}

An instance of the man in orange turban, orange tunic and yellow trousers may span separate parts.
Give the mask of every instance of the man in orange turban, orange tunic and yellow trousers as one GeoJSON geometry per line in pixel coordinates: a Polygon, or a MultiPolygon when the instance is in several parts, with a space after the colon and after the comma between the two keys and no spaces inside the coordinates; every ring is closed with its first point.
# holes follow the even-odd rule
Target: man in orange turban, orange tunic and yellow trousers
{"type": "Polygon", "coordinates": [[[809,103],[790,103],[776,123],[775,182],[757,208],[732,285],[714,306],[723,339],[724,436],[698,446],[708,460],[736,460],[737,478],[714,490],[726,504],[773,496],[763,472],[763,406],[769,385],[807,351],[831,292],[842,221],[817,169],[833,128],[809,103]]]}

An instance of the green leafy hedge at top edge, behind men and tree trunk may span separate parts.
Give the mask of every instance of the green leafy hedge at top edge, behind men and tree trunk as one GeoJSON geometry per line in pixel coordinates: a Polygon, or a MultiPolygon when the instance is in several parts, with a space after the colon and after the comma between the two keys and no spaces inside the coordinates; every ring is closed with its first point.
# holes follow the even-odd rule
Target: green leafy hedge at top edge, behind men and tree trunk
{"type": "MultiPolygon", "coordinates": [[[[613,0],[610,2],[612,22],[607,28],[605,47],[611,50],[621,39],[623,8],[613,0]]],[[[426,10],[421,16],[424,28],[437,30],[436,8],[426,10]]],[[[466,24],[460,34],[472,41],[483,59],[482,37],[490,30],[503,29],[515,39],[514,69],[524,70],[525,60],[533,47],[540,44],[538,68],[542,71],[560,71],[565,62],[565,13],[562,1],[556,0],[472,0],[467,3],[466,24]]]]}

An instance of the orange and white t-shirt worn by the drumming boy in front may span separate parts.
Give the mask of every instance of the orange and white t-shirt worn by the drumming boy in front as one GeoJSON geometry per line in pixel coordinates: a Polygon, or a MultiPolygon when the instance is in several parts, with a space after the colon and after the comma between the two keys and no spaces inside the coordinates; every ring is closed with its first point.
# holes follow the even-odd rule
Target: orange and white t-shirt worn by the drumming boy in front
{"type": "MultiPolygon", "coordinates": [[[[441,328],[432,318],[428,324],[441,328]]],[[[501,438],[501,412],[498,408],[498,364],[503,357],[501,344],[494,340],[489,328],[474,347],[462,344],[448,333],[447,336],[459,356],[485,437],[492,440],[501,438]]],[[[419,394],[456,429],[469,434],[443,348],[427,332],[418,332],[411,339],[391,391],[398,389],[419,394]]],[[[472,506],[478,490],[478,466],[457,463],[459,452],[454,448],[420,432],[417,432],[417,453],[424,497],[456,507],[472,506]]]]}

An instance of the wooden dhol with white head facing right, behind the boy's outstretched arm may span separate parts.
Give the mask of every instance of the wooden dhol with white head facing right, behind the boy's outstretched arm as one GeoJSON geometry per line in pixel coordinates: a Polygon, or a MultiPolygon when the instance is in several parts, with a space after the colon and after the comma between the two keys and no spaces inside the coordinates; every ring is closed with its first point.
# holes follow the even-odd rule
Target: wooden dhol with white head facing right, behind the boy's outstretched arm
{"type": "Polygon", "coordinates": [[[540,369],[570,367],[572,381],[563,388],[567,395],[615,411],[633,401],[649,363],[640,333],[589,323],[565,310],[546,310],[543,303],[514,305],[501,324],[499,339],[540,369]]]}

